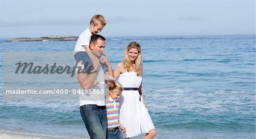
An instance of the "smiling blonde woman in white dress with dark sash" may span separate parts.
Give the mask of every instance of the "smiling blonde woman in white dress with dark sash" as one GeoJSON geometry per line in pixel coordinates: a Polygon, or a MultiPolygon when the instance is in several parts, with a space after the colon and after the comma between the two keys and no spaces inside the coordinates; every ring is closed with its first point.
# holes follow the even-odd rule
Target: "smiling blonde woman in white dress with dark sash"
{"type": "Polygon", "coordinates": [[[117,64],[114,76],[123,86],[119,98],[119,122],[126,128],[125,138],[146,133],[144,138],[154,138],[156,130],[147,108],[142,90],[142,54],[137,42],[130,42],[126,47],[124,60],[117,64]]]}

